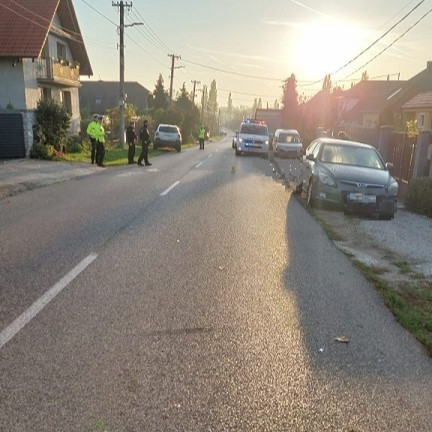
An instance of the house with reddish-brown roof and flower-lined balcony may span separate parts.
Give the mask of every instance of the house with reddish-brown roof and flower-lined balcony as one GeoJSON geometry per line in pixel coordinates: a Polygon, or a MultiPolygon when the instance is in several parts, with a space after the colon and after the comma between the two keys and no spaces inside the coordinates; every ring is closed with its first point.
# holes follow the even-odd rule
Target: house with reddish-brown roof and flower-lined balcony
{"type": "Polygon", "coordinates": [[[23,113],[26,154],[40,99],[64,104],[79,132],[80,76],[92,74],[72,0],[1,0],[0,110],[23,113]]]}

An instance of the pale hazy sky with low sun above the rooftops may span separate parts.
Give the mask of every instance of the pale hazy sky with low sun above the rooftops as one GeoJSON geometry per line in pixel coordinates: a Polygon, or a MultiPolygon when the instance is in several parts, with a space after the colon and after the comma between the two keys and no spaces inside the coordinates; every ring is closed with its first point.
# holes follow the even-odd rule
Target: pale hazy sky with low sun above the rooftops
{"type": "MultiPolygon", "coordinates": [[[[174,72],[174,92],[183,83],[191,92],[191,81],[200,81],[199,100],[202,86],[210,87],[215,79],[220,106],[227,105],[232,92],[234,106],[251,106],[261,97],[263,106],[270,108],[280,100],[282,82],[292,73],[298,93],[308,97],[320,90],[328,73],[344,88],[365,70],[371,79],[390,74],[391,79],[406,80],[432,60],[432,13],[388,47],[432,10],[432,0],[424,0],[383,39],[345,65],[420,1],[135,0],[125,24],[144,25],[125,29],[125,80],[153,91],[162,74],[169,89],[168,54],[176,54],[181,59],[175,63],[179,68],[174,72]]],[[[93,68],[91,79],[118,81],[118,8],[112,0],[73,3],[93,68]]]]}

